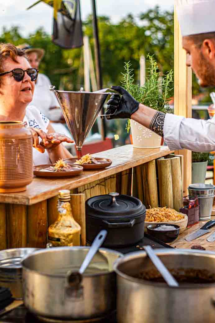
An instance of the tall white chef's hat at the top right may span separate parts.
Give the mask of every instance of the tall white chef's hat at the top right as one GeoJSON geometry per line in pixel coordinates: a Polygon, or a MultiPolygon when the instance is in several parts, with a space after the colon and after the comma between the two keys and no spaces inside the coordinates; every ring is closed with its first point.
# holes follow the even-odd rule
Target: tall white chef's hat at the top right
{"type": "Polygon", "coordinates": [[[182,36],[215,32],[215,0],[176,0],[182,36]]]}

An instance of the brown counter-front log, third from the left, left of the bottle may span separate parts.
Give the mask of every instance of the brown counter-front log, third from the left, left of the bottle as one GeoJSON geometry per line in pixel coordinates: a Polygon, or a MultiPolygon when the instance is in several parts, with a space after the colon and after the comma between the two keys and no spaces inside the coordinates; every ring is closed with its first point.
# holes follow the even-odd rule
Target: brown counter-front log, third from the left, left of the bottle
{"type": "Polygon", "coordinates": [[[46,200],[27,207],[28,247],[45,248],[47,243],[46,200]]]}

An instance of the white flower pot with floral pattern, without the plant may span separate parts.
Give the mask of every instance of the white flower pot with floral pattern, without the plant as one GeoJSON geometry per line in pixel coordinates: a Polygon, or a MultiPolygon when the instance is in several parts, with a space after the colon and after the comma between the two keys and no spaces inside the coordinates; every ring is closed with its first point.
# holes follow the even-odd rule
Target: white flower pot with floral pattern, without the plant
{"type": "Polygon", "coordinates": [[[131,134],[134,148],[160,148],[161,137],[134,120],[131,120],[131,134]]]}

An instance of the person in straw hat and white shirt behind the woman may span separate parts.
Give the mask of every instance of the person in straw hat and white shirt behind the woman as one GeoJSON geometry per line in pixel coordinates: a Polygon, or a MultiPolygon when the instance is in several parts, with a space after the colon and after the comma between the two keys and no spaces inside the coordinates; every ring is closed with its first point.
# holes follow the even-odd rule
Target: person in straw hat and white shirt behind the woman
{"type": "MultiPolygon", "coordinates": [[[[28,44],[16,47],[25,51],[32,68],[39,69],[40,61],[45,54],[44,49],[31,47],[28,44]]],[[[51,121],[59,121],[63,118],[63,115],[55,94],[49,91],[50,85],[50,79],[46,75],[39,73],[35,81],[34,97],[31,104],[37,107],[51,121]]],[[[65,127],[64,131],[66,131],[65,127]]]]}

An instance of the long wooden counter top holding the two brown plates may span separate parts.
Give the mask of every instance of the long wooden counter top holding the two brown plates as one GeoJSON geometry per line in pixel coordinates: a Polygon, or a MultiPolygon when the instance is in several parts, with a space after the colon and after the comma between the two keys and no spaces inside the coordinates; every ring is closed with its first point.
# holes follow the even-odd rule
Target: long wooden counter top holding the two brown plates
{"type": "Polygon", "coordinates": [[[31,205],[56,196],[59,190],[74,189],[81,185],[111,176],[129,168],[141,165],[145,162],[163,157],[172,153],[167,146],[159,149],[137,149],[132,145],[102,151],[93,154],[96,157],[104,157],[112,160],[112,165],[104,170],[84,171],[80,176],[65,179],[44,179],[35,177],[27,186],[25,192],[1,193],[0,203],[13,203],[31,205]]]}

